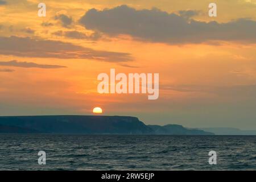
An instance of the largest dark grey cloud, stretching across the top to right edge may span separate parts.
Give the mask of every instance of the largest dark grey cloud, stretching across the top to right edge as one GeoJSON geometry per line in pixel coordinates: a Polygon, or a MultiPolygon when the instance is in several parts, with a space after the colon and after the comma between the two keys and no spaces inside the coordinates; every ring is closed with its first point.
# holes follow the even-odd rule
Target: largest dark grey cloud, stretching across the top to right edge
{"type": "Polygon", "coordinates": [[[122,5],[102,11],[90,9],[79,22],[88,30],[110,36],[126,34],[150,42],[181,44],[224,40],[256,43],[254,20],[200,22],[187,19],[196,14],[194,11],[181,11],[180,14],[169,14],[159,9],[135,10],[122,5]]]}

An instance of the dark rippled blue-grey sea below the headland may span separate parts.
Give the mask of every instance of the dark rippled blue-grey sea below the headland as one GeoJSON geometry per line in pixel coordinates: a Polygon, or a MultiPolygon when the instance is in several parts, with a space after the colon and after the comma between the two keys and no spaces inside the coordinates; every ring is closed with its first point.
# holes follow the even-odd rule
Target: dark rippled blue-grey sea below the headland
{"type": "Polygon", "coordinates": [[[0,134],[0,170],[256,170],[256,136],[0,134]]]}

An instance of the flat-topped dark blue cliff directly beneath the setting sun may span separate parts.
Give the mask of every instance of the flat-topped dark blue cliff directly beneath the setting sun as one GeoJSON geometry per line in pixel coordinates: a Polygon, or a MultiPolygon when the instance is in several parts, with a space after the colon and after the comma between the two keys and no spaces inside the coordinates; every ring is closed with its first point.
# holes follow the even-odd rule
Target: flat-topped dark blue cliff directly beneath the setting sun
{"type": "Polygon", "coordinates": [[[53,115],[0,117],[0,124],[40,131],[73,134],[151,134],[135,117],[97,115],[53,115]]]}

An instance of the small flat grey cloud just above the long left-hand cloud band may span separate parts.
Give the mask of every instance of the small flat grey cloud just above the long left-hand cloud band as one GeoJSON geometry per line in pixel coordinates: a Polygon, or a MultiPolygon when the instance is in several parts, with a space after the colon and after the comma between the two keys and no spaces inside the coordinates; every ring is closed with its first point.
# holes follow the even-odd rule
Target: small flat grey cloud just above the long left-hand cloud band
{"type": "Polygon", "coordinates": [[[86,35],[79,31],[56,31],[52,33],[53,35],[57,36],[65,36],[71,39],[89,39],[89,40],[98,40],[101,35],[98,32],[94,32],[91,35],[86,35]]]}

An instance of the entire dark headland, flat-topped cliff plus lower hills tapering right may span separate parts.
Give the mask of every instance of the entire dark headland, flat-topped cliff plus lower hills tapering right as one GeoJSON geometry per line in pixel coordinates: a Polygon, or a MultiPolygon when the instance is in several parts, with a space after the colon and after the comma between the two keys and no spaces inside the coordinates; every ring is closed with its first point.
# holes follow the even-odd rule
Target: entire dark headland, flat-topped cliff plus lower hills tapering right
{"type": "Polygon", "coordinates": [[[0,133],[213,135],[180,125],[145,125],[136,117],[103,115],[0,117],[0,133]]]}

